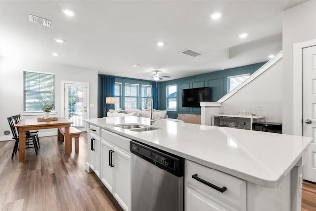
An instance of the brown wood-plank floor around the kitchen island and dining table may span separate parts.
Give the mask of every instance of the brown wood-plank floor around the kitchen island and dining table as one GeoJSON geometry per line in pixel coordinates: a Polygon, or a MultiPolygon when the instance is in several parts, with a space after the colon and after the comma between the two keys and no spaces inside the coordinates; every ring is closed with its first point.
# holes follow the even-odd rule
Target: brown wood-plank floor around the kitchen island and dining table
{"type": "MultiPolygon", "coordinates": [[[[74,146],[74,140],[73,146],[74,146]]],[[[64,156],[57,136],[40,138],[40,150],[26,149],[25,163],[11,159],[13,141],[0,142],[0,211],[122,211],[94,173],[86,173],[87,137],[64,156]]],[[[303,182],[302,211],[316,211],[316,184],[303,182]]]]}

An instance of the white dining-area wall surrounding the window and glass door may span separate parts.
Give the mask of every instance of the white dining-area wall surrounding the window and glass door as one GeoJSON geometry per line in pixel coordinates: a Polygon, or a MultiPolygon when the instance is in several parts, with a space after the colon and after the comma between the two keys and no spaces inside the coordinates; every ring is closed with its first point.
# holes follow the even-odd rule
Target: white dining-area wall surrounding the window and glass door
{"type": "MultiPolygon", "coordinates": [[[[23,112],[24,70],[55,73],[55,110],[57,117],[61,116],[61,81],[89,83],[89,100],[90,104],[94,104],[94,107],[89,108],[89,118],[97,117],[98,72],[96,70],[0,57],[0,140],[11,140],[12,137],[11,134],[8,136],[3,134],[5,130],[10,131],[6,118],[23,112]]],[[[35,117],[27,116],[27,118],[35,117]]]]}

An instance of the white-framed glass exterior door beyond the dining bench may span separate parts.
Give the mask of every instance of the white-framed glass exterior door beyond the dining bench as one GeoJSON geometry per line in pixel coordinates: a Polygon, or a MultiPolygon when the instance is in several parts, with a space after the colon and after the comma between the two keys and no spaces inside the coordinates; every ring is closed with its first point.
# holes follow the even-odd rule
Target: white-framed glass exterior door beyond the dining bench
{"type": "Polygon", "coordinates": [[[64,86],[64,117],[73,122],[72,127],[81,131],[86,130],[83,119],[88,118],[88,97],[86,84],[65,83],[64,86]]]}

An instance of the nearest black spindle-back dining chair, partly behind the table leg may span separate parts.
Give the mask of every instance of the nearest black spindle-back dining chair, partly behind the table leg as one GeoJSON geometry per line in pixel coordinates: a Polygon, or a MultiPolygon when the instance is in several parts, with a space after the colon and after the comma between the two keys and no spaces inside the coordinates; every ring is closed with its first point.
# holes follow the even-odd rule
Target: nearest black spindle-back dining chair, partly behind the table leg
{"type": "MultiPolygon", "coordinates": [[[[14,121],[14,116],[12,117],[8,117],[7,118],[9,125],[10,125],[10,129],[13,135],[13,139],[15,140],[14,143],[14,148],[13,148],[13,152],[12,152],[12,157],[11,159],[13,159],[14,154],[17,153],[18,148],[19,148],[19,132],[17,131],[17,129],[14,127],[15,125],[15,121],[14,121]]],[[[35,150],[35,154],[38,154],[38,147],[37,147],[37,143],[36,143],[36,134],[26,134],[25,135],[25,148],[34,148],[35,150]]]]}

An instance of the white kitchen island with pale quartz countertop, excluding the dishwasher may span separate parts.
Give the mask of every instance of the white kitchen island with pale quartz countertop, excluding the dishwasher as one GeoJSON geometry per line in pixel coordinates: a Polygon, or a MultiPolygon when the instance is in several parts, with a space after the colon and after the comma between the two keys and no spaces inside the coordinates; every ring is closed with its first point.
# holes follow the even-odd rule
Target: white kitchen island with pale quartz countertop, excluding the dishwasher
{"type": "MultiPolygon", "coordinates": [[[[94,146],[91,147],[92,154],[88,155],[87,170],[96,172],[108,189],[112,186],[103,178],[101,164],[104,160],[102,146],[106,147],[108,143],[105,141],[102,145],[102,139],[109,139],[110,145],[114,145],[109,152],[115,151],[114,148],[122,152],[121,158],[126,159],[126,165],[132,165],[131,160],[128,160],[128,140],[133,139],[186,159],[187,211],[191,210],[190,206],[186,206],[188,201],[194,204],[198,200],[205,202],[208,199],[210,202],[202,205],[204,207],[200,210],[213,202],[212,207],[218,210],[300,210],[304,151],[312,141],[311,138],[172,121],[157,121],[153,127],[158,129],[143,132],[115,126],[131,123],[150,125],[148,118],[141,117],[93,118],[84,121],[89,124],[93,139],[88,144],[100,146],[101,149],[98,151],[94,146]],[[232,184],[231,191],[218,195],[216,191],[205,189],[203,184],[191,181],[189,174],[196,173],[194,170],[198,169],[202,171],[199,175],[203,175],[205,171],[205,177],[217,175],[224,180],[227,177],[226,181],[232,184]]],[[[88,141],[90,140],[89,137],[88,141]]],[[[129,170],[130,168],[127,169],[129,170]]],[[[126,176],[129,175],[130,173],[126,172],[126,176]]],[[[112,180],[115,178],[113,173],[112,180]]],[[[127,181],[127,186],[129,184],[130,180],[127,181]]],[[[125,210],[130,207],[130,195],[129,192],[128,196],[117,198],[125,210]],[[124,197],[126,199],[123,199],[124,197]]]]}

